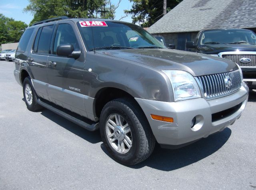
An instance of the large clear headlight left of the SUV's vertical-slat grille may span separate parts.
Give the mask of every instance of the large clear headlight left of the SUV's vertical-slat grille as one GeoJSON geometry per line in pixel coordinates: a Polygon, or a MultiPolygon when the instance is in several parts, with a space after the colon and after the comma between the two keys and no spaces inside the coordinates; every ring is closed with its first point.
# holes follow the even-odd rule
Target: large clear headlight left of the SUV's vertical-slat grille
{"type": "Polygon", "coordinates": [[[186,71],[163,70],[172,83],[174,101],[201,98],[195,78],[186,71]]]}

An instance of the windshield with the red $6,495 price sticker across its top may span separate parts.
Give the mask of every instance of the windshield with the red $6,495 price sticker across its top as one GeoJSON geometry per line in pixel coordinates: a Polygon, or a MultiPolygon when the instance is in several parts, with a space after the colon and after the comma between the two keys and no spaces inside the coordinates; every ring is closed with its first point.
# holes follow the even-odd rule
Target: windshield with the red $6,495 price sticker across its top
{"type": "Polygon", "coordinates": [[[104,49],[166,48],[135,24],[110,21],[77,22],[88,51],[104,49]]]}

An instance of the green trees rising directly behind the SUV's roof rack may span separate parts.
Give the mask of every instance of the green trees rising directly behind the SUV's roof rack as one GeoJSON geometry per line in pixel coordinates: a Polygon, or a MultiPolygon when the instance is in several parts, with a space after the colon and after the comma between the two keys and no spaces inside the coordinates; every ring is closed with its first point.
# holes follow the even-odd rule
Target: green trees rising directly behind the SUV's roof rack
{"type": "Polygon", "coordinates": [[[112,5],[110,0],[29,0],[29,2],[24,12],[31,12],[34,15],[30,25],[59,16],[114,19],[117,7],[112,5]]]}

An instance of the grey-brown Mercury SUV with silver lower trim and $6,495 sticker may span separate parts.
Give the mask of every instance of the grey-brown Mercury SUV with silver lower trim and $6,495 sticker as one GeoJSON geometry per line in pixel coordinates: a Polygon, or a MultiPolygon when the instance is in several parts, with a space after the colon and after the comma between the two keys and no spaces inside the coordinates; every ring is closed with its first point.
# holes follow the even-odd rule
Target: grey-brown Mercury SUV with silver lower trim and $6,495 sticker
{"type": "Polygon", "coordinates": [[[248,100],[232,61],[168,49],[114,20],[36,23],[20,39],[15,67],[28,110],[48,108],[100,129],[109,153],[126,165],[147,159],[156,142],[181,147],[222,131],[248,100]]]}

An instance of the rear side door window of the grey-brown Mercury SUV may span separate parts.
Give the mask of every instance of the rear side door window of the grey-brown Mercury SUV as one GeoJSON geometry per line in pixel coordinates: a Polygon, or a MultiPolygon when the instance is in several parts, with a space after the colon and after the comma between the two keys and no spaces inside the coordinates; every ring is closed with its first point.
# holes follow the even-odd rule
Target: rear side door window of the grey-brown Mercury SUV
{"type": "MultiPolygon", "coordinates": [[[[52,41],[52,32],[54,25],[44,26],[40,33],[37,53],[50,54],[50,46],[52,41]]],[[[35,43],[36,44],[36,43],[35,43]]],[[[34,49],[36,50],[36,49],[34,49]]]]}

